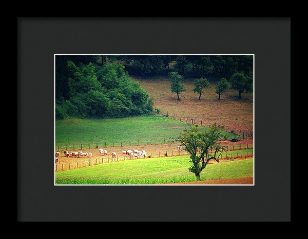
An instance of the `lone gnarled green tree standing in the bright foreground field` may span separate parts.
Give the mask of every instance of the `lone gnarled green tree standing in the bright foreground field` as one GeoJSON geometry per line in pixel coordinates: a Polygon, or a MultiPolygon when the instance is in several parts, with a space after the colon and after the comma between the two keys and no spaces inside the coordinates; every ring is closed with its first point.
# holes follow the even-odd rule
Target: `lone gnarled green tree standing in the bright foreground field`
{"type": "Polygon", "coordinates": [[[178,138],[173,138],[172,142],[180,142],[184,150],[190,154],[190,162],[192,165],[188,170],[195,173],[200,180],[200,172],[206,167],[207,163],[214,159],[219,162],[219,157],[225,146],[221,146],[217,140],[223,140],[221,130],[223,126],[211,125],[207,130],[201,130],[197,124],[185,129],[178,138]]]}

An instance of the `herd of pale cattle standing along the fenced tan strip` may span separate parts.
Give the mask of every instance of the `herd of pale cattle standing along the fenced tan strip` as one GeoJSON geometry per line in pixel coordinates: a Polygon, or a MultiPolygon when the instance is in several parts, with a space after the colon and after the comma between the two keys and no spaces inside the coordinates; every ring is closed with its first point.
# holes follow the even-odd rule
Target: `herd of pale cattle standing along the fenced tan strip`
{"type": "MultiPolygon", "coordinates": [[[[178,149],[178,151],[181,151],[182,146],[181,145],[177,146],[177,149],[178,149]]],[[[100,148],[99,149],[99,153],[102,156],[108,156],[108,152],[107,152],[106,149],[100,148]]],[[[145,158],[146,157],[146,152],[145,152],[145,150],[139,151],[138,149],[122,150],[122,155],[130,157],[130,158],[137,158],[137,159],[139,159],[139,158],[145,158]]],[[[57,157],[60,157],[60,152],[59,151],[55,152],[54,156],[56,158],[55,159],[55,163],[59,162],[59,159],[57,159],[57,157]]],[[[91,158],[92,157],[92,153],[91,152],[87,153],[87,152],[83,152],[83,151],[78,151],[78,152],[70,151],[70,153],[68,153],[68,150],[64,150],[64,156],[67,157],[67,158],[68,157],[80,158],[80,157],[84,157],[84,156],[91,158]]],[[[117,153],[116,152],[111,152],[111,157],[112,158],[117,158],[117,153]]]]}

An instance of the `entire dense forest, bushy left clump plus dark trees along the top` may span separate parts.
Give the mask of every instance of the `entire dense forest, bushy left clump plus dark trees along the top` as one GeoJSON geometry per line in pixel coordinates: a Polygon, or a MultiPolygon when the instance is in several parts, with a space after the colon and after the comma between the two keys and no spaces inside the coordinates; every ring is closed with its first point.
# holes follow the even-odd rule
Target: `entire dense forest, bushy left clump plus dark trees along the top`
{"type": "MultiPolygon", "coordinates": [[[[185,79],[252,78],[248,55],[56,55],[55,117],[115,118],[152,114],[153,99],[131,75],[166,75],[185,79]]],[[[240,93],[240,92],[239,92],[240,93]]]]}

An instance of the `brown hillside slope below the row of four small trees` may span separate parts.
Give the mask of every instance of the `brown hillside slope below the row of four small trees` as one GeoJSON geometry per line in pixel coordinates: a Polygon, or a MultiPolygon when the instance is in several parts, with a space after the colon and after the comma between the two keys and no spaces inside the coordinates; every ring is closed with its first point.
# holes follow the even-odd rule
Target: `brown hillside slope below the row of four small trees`
{"type": "Polygon", "coordinates": [[[194,85],[191,82],[182,82],[185,92],[180,93],[178,101],[176,94],[170,92],[170,82],[167,78],[132,77],[140,83],[141,88],[155,98],[154,108],[160,108],[161,114],[168,112],[169,117],[175,115],[181,121],[187,120],[202,125],[217,123],[225,125],[227,131],[235,128],[236,133],[253,132],[253,94],[242,94],[238,99],[238,92],[228,90],[220,96],[215,93],[215,84],[211,88],[204,89],[201,100],[199,94],[192,91],[194,85]]]}

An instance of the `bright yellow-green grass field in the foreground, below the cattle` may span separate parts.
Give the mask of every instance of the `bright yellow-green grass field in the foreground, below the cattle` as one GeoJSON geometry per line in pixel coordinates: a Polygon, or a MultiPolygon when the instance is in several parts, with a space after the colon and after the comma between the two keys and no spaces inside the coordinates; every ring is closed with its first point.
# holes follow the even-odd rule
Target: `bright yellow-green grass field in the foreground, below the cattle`
{"type": "MultiPolygon", "coordinates": [[[[164,184],[196,181],[188,156],[126,160],[55,173],[56,184],[164,184]]],[[[201,180],[253,176],[253,159],[208,164],[201,180]]]]}

